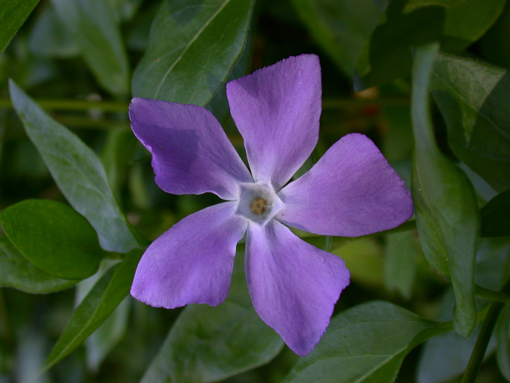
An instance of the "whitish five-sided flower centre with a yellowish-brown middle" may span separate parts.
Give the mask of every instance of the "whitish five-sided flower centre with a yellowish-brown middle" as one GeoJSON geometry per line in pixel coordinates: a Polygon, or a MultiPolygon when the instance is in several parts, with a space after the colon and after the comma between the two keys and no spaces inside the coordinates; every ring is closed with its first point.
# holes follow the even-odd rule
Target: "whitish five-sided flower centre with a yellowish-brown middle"
{"type": "Polygon", "coordinates": [[[265,224],[282,210],[283,203],[270,182],[258,181],[241,184],[238,213],[252,222],[265,224]]]}

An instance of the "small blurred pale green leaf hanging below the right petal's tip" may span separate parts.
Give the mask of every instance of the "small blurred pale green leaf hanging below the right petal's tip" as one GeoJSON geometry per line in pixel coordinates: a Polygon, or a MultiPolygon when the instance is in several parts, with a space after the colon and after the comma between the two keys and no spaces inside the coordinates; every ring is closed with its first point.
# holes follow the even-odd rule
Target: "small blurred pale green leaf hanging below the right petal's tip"
{"type": "Polygon", "coordinates": [[[419,252],[414,230],[386,236],[384,282],[388,291],[398,292],[407,300],[411,298],[419,252]]]}

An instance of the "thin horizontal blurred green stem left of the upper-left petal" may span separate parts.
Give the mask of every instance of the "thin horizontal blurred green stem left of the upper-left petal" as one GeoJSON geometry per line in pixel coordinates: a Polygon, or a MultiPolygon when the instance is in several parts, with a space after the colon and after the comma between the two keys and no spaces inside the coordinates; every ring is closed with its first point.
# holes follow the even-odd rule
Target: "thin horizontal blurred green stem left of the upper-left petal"
{"type": "MultiPolygon", "coordinates": [[[[129,103],[122,101],[86,101],[86,100],[36,100],[46,110],[90,110],[101,109],[104,112],[127,112],[129,103]]],[[[0,109],[12,109],[10,99],[0,99],[0,109]]]]}

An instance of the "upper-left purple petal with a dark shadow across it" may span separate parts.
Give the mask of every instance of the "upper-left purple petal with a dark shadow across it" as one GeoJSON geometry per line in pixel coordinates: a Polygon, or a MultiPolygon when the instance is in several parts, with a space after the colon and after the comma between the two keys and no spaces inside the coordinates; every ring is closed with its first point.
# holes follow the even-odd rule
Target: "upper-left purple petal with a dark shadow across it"
{"type": "Polygon", "coordinates": [[[133,99],[129,117],[136,137],[152,153],[156,183],[165,192],[211,192],[234,200],[239,182],[252,182],[239,154],[208,110],[133,99]]]}

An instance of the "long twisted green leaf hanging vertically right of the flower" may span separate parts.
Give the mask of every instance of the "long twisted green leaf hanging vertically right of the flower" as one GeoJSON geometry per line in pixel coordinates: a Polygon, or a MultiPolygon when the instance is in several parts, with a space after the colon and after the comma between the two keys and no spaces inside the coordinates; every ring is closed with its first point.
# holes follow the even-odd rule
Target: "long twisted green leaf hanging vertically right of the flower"
{"type": "Polygon", "coordinates": [[[439,151],[428,110],[428,92],[438,44],[416,50],[411,100],[415,151],[411,183],[423,253],[450,277],[456,294],[453,324],[469,336],[476,324],[474,261],[479,212],[466,175],[439,151]]]}

